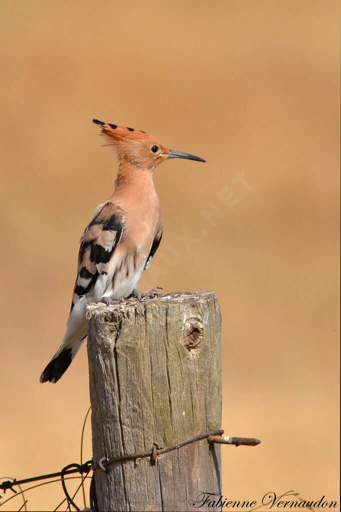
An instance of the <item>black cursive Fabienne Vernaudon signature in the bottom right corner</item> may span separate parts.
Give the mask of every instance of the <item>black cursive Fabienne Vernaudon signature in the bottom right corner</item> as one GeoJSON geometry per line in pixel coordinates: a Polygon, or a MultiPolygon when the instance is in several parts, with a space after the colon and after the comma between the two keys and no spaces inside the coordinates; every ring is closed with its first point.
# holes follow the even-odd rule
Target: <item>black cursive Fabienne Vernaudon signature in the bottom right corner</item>
{"type": "Polygon", "coordinates": [[[289,499],[290,497],[296,497],[298,493],[294,493],[293,490],[288,490],[286,493],[277,496],[274,491],[266,493],[260,501],[254,500],[231,500],[230,498],[224,498],[219,493],[206,493],[200,491],[195,496],[195,501],[193,502],[194,508],[201,508],[206,505],[207,508],[243,508],[244,510],[256,510],[256,508],[264,506],[262,510],[270,510],[272,507],[283,508],[284,510],[293,510],[293,509],[321,509],[321,508],[331,508],[336,509],[339,506],[337,501],[328,501],[325,496],[322,498],[315,500],[304,500],[303,498],[299,499],[289,499]]]}

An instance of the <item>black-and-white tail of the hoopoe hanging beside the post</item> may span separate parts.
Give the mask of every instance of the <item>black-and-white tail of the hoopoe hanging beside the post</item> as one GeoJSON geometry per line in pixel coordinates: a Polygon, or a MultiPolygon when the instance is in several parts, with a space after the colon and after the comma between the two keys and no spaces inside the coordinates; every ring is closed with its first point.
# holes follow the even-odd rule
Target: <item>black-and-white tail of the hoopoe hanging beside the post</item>
{"type": "Polygon", "coordinates": [[[68,329],[63,343],[40,375],[40,382],[57,382],[71,365],[85,338],[86,325],[82,326],[71,336],[68,329]]]}

